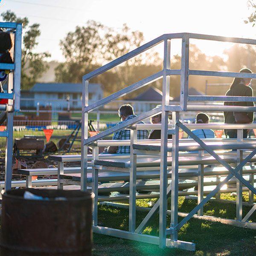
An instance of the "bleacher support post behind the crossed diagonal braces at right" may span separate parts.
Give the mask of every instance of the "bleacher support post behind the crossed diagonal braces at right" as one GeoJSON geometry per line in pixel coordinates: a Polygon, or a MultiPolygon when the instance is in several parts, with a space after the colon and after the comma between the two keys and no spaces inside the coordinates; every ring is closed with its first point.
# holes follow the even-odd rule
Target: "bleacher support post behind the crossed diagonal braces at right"
{"type": "MultiPolygon", "coordinates": [[[[241,142],[243,140],[243,130],[239,129],[237,130],[237,141],[241,142]]],[[[241,161],[243,160],[243,151],[237,149],[237,165],[239,165],[239,163],[241,163],[241,161]]],[[[238,173],[242,176],[243,175],[243,168],[241,168],[240,170],[238,170],[238,173]]],[[[241,221],[242,220],[242,183],[240,180],[237,179],[236,181],[236,220],[237,221],[241,221]]]]}

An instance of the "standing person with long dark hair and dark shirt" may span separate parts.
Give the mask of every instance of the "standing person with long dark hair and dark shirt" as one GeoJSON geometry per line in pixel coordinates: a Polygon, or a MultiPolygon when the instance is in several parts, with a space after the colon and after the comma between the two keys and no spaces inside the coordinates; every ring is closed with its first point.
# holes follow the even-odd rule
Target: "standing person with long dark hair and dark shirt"
{"type": "MultiPolygon", "coordinates": [[[[240,73],[252,73],[251,70],[243,68],[239,71],[240,73]]],[[[253,89],[249,86],[251,79],[250,78],[234,78],[230,89],[227,91],[225,96],[253,96],[253,89]]],[[[224,106],[250,106],[253,107],[253,102],[224,102],[224,106]]],[[[253,112],[246,113],[250,119],[250,122],[253,122],[253,112]]],[[[236,124],[234,117],[234,112],[224,111],[224,123],[225,124],[236,124]]],[[[237,138],[237,130],[224,130],[226,137],[237,138]]],[[[243,137],[247,138],[248,131],[244,129],[243,137]]]]}

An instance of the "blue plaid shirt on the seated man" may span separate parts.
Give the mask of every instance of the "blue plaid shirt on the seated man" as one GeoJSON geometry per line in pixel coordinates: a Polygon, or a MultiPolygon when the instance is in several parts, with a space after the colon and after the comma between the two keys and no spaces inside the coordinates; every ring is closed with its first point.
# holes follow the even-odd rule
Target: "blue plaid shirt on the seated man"
{"type": "MultiPolygon", "coordinates": [[[[122,124],[132,118],[136,117],[136,115],[128,116],[124,121],[119,122],[117,125],[122,124]]],[[[138,124],[145,124],[144,122],[138,122],[138,124]]],[[[120,130],[114,133],[112,140],[130,140],[131,133],[130,130],[120,130]]],[[[148,140],[148,130],[138,130],[137,131],[137,139],[138,140],[148,140]]],[[[130,146],[119,146],[116,151],[117,154],[125,154],[130,153],[130,146]]]]}

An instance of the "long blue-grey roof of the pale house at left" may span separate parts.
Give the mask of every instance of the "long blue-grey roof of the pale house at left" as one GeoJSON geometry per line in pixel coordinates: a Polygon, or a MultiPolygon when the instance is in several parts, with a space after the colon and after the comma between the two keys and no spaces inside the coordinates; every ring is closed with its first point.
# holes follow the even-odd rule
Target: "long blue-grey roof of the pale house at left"
{"type": "MultiPolygon", "coordinates": [[[[101,84],[89,84],[89,93],[102,90],[101,84]]],[[[37,83],[31,89],[34,93],[82,93],[82,84],[37,83]]]]}

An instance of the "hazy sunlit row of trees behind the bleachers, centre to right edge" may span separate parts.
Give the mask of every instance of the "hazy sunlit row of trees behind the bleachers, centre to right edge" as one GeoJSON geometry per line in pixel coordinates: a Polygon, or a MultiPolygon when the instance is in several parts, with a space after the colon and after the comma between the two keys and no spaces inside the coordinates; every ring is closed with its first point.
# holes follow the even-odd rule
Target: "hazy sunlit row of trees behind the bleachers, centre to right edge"
{"type": "MultiPolygon", "coordinates": [[[[127,52],[141,46],[144,41],[143,33],[140,31],[131,31],[126,24],[120,29],[113,29],[89,21],[84,27],[76,27],[74,32],[69,32],[61,40],[61,49],[66,59],[56,68],[56,77],[58,82],[78,82],[90,71],[119,58],[127,52]]],[[[245,46],[244,46],[245,47],[245,46]]],[[[255,49],[247,47],[237,49],[228,49],[224,52],[227,55],[227,61],[220,56],[208,56],[194,44],[189,48],[189,69],[210,70],[210,71],[233,71],[238,72],[242,67],[248,66],[246,52],[250,52],[251,66],[256,58],[255,49]],[[253,52],[254,51],[254,52],[253,52]]],[[[171,69],[180,69],[180,55],[172,56],[171,69]]],[[[154,48],[142,53],[117,67],[93,78],[90,82],[97,82],[104,85],[105,96],[121,90],[130,84],[140,81],[163,69],[163,59],[159,57],[154,48]]],[[[189,76],[189,87],[194,87],[202,92],[205,91],[206,80],[208,83],[229,83],[230,78],[207,77],[207,76],[189,76]]],[[[148,85],[162,90],[162,80],[157,80],[148,85]]],[[[212,95],[224,95],[226,87],[221,87],[216,91],[216,87],[209,90],[212,95]]],[[[134,93],[126,96],[126,99],[132,99],[145,87],[136,90],[134,93]]],[[[176,97],[180,94],[180,76],[170,77],[170,96],[176,97]]]]}

